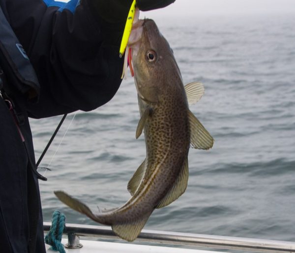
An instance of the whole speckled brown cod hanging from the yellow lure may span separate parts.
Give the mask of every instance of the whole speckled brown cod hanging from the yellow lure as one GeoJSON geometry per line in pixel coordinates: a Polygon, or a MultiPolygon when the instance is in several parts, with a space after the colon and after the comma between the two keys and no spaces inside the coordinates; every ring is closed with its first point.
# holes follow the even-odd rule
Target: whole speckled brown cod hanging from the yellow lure
{"type": "Polygon", "coordinates": [[[128,46],[141,119],[136,138],[144,131],[146,159],[128,183],[131,198],[121,207],[94,214],[62,191],[60,201],[90,219],[111,225],[122,239],[133,241],[155,208],[174,202],[186,189],[190,146],[210,149],[213,138],[189,110],[204,94],[201,83],[183,86],[173,51],[153,20],[139,20],[128,46]]]}

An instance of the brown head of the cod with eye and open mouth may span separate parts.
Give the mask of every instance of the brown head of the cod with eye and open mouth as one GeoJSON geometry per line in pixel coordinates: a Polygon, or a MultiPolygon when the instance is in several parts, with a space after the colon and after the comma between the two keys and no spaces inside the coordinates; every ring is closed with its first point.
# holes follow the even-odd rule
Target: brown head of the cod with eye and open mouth
{"type": "Polygon", "coordinates": [[[169,85],[182,85],[173,51],[153,20],[135,23],[128,47],[132,52],[135,85],[143,101],[160,102],[169,85]]]}

